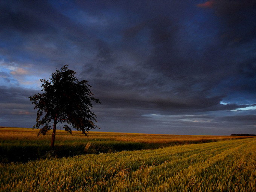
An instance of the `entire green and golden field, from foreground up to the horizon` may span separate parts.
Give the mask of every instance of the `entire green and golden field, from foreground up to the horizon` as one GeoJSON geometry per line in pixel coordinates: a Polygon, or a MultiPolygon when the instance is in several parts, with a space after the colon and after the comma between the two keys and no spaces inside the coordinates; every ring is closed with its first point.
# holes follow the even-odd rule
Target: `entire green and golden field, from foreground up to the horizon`
{"type": "Polygon", "coordinates": [[[56,150],[73,151],[63,155],[42,150],[50,135],[37,132],[0,128],[0,191],[256,191],[256,137],[59,131],[56,150]],[[83,154],[75,155],[82,143],[83,154]],[[12,159],[15,147],[41,156],[12,159]]]}

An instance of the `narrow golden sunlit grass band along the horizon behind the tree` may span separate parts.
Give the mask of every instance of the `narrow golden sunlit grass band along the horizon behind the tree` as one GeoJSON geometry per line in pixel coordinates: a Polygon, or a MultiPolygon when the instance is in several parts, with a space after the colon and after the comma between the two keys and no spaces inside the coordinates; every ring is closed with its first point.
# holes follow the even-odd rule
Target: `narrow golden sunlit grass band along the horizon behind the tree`
{"type": "MultiPolygon", "coordinates": [[[[46,136],[37,137],[39,130],[30,128],[0,127],[0,140],[50,140],[52,132],[46,136]]],[[[110,133],[89,131],[88,136],[84,136],[80,131],[72,131],[72,135],[64,130],[56,131],[56,140],[116,140],[125,142],[146,142],[146,143],[172,143],[172,142],[205,142],[217,140],[230,140],[248,138],[245,136],[191,136],[191,135],[167,135],[167,134],[140,134],[140,133],[110,133]]]]}

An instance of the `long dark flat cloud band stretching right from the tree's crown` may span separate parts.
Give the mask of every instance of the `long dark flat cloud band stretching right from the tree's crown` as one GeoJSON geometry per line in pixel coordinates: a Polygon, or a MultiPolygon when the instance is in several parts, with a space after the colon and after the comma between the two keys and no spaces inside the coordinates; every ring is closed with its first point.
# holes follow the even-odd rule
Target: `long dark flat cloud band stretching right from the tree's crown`
{"type": "MultiPolygon", "coordinates": [[[[111,86],[111,82],[104,84],[105,86],[111,86]]],[[[104,86],[103,85],[103,86],[104,86]]],[[[109,88],[109,87],[108,87],[109,88]]],[[[238,108],[243,109],[247,107],[253,107],[255,105],[236,105],[236,104],[220,104],[222,97],[214,98],[189,98],[184,97],[182,101],[173,98],[163,98],[158,94],[151,93],[151,95],[139,95],[133,91],[127,90],[125,93],[123,90],[118,90],[120,87],[113,85],[111,91],[104,90],[94,91],[94,93],[100,99],[102,105],[108,105],[111,108],[137,108],[143,110],[158,110],[158,113],[190,113],[207,112],[207,111],[230,111],[238,108]],[[111,92],[111,93],[110,93],[111,92]]],[[[152,112],[153,113],[153,112],[152,112]]]]}

